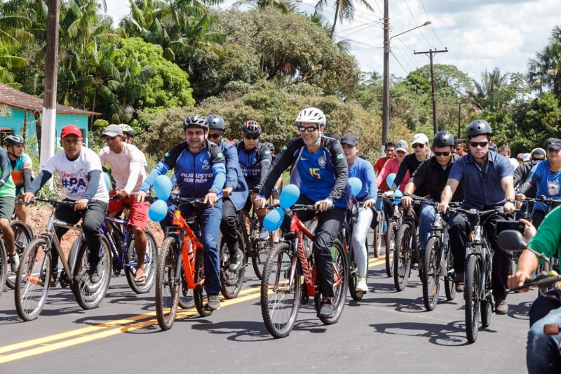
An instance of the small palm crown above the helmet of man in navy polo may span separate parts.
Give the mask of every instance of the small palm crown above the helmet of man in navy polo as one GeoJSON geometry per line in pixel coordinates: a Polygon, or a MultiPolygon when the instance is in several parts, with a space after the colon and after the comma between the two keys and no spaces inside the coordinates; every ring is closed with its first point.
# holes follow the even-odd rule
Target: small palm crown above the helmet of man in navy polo
{"type": "Polygon", "coordinates": [[[501,88],[508,85],[508,74],[501,75],[499,67],[495,67],[492,72],[481,73],[481,81],[473,80],[473,91],[468,91],[468,95],[473,101],[473,105],[480,110],[495,112],[503,104],[501,98],[501,88]]]}

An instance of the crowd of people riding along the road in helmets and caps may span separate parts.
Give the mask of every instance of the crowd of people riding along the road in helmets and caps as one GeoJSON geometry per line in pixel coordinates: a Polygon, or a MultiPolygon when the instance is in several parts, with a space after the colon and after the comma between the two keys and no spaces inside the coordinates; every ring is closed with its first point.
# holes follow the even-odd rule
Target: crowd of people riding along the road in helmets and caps
{"type": "MultiPolygon", "coordinates": [[[[447,214],[454,258],[448,275],[458,293],[464,292],[466,286],[464,258],[475,218],[450,207],[495,210],[482,222],[493,253],[491,288],[496,314],[508,312],[508,288],[524,284],[539,266],[536,253],[547,258],[561,255],[561,208],[555,208],[555,201],[561,201],[561,140],[549,139],[544,148],[518,154],[514,159],[508,146],[497,149],[492,143],[489,123],[476,120],[468,125],[465,140],[446,131],[436,133],[432,139],[417,133],[411,147],[403,139],[387,142],[385,156],[371,163],[360,156],[357,135],[325,133],[327,121],[320,109],[302,109],[295,122],[299,137],[273,155],[273,145],[262,142],[262,126],[257,121],[245,121],[240,128],[241,140],[230,142],[224,138],[227,124],[222,116],[188,116],[182,123],[185,140],[162,149],[166,152],[151,171],[147,170],[144,154],[132,144],[135,134],[130,126],[107,126],[102,133],[107,146],[96,154],[83,146],[79,128],[67,125],[60,133],[62,152],[52,156],[36,177],[32,161],[24,152],[23,138],[9,135],[5,139],[6,151],[0,150],[0,229],[9,271],[17,272],[20,266],[10,222],[14,217],[27,220],[26,204],[33,201],[55,172],[60,175],[65,199],[73,203],[60,206],[56,218],[70,224],[82,220],[83,236],[90,248],[89,281],[98,283],[103,276],[97,251],[102,241],[102,222],[107,216],[123,214],[128,218],[137,253],[134,282],[142,285],[147,280],[145,232],[151,201],[147,196],[158,176],[173,171],[177,194],[201,199],[201,203],[182,204],[179,208],[184,217],[197,217],[208,310],[220,308],[219,293],[224,286],[219,255],[222,243],[229,251],[227,271],[238,272],[244,265],[245,253],[238,235],[239,227],[245,227],[247,222],[239,222],[241,211],[255,212],[259,220],[257,241],[275,245],[290,232],[288,218],[280,225],[280,232],[269,232],[263,225],[269,211],[267,204],[278,203],[285,171],[290,171],[290,184],[299,187],[295,203],[313,206],[295,214],[302,221],[316,222],[312,248],[321,295],[318,316],[330,318],[334,313],[332,246],[353,209],[356,214],[349,246],[356,260],[358,293],[372,290],[372,285],[367,284],[367,234],[371,227],[387,224],[384,220],[396,214],[396,204],[400,204],[398,209],[413,208],[419,222],[419,256],[414,260],[418,262],[421,281],[431,227],[436,215],[447,214]],[[109,186],[104,171],[110,171],[109,186]],[[349,178],[362,182],[360,192],[351,192],[349,178]],[[512,253],[499,248],[497,222],[505,218],[516,218],[525,225],[529,243],[520,256],[518,269],[513,269],[512,253]]],[[[164,230],[172,225],[177,209],[172,203],[168,206],[168,215],[161,222],[164,230]]],[[[59,239],[65,232],[65,227],[56,229],[59,239]]],[[[51,255],[51,286],[55,286],[59,260],[56,252],[51,255]]],[[[543,324],[561,318],[561,305],[542,299],[540,296],[529,312],[532,328],[528,369],[532,373],[558,373],[561,335],[545,335],[543,324]]]]}

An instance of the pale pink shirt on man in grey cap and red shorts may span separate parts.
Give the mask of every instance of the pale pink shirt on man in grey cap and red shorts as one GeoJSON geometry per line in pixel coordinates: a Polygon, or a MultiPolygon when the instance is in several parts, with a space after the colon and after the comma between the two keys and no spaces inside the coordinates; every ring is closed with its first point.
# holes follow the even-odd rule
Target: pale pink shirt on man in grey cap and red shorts
{"type": "Polygon", "coordinates": [[[100,151],[101,163],[107,163],[111,175],[117,182],[116,189],[125,189],[129,194],[136,192],[146,179],[146,157],[135,145],[123,142],[123,150],[115,153],[104,147],[100,151]]]}

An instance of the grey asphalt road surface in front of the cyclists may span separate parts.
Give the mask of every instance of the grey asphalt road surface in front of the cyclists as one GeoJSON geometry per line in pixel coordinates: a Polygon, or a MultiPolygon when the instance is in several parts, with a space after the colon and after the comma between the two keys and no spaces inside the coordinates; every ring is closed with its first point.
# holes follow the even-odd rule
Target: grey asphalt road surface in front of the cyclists
{"type": "MultiPolygon", "coordinates": [[[[0,373],[525,373],[527,312],[535,293],[509,295],[469,345],[462,295],[426,312],[417,272],[396,292],[380,260],[370,259],[370,293],[349,297],[339,323],[324,326],[311,304],[288,338],[267,333],[251,266],[238,299],[201,318],[182,311],[161,331],[154,291],[135,295],[123,275],[111,279],[97,309],[82,310],[69,289],[50,292],[39,319],[20,321],[13,291],[0,298],[0,373]]],[[[443,287],[441,287],[443,294],[443,287]]]]}

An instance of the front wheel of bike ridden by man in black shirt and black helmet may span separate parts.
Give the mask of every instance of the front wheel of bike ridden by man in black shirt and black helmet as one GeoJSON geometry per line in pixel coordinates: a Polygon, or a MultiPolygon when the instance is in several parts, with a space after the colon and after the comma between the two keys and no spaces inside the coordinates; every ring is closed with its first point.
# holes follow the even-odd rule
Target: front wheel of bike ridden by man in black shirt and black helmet
{"type": "Polygon", "coordinates": [[[438,269],[440,254],[440,239],[433,236],[426,243],[424,257],[423,302],[426,310],[434,310],[438,303],[440,291],[440,271],[438,269]]]}

